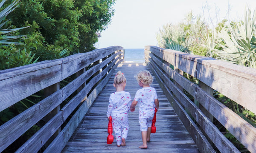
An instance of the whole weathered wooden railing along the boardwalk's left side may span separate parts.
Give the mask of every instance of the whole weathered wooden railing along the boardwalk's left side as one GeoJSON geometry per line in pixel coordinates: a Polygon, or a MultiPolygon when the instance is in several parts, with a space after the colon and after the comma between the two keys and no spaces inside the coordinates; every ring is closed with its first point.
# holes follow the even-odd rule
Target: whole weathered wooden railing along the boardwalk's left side
{"type": "Polygon", "coordinates": [[[49,141],[44,153],[61,152],[113,69],[123,61],[123,48],[113,46],[0,71],[0,111],[41,90],[46,96],[0,126],[0,152],[41,119],[45,125],[16,152],[37,152],[49,141]],[[73,74],[76,79],[60,89],[60,82],[73,74]],[[61,128],[68,117],[71,119],[61,128]]]}

